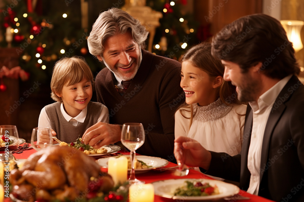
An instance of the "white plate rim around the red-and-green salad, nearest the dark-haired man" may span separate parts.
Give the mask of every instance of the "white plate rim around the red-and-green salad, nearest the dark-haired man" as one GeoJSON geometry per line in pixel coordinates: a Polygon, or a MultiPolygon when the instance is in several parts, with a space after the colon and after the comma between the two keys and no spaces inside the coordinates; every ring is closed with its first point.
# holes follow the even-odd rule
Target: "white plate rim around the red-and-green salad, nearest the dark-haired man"
{"type": "Polygon", "coordinates": [[[224,197],[230,197],[238,194],[240,188],[234,184],[229,184],[219,180],[209,180],[209,179],[169,179],[160,180],[152,182],[154,186],[154,194],[157,196],[171,198],[174,200],[217,200],[224,197]],[[185,181],[200,181],[203,183],[209,183],[212,187],[217,186],[219,189],[219,194],[209,195],[209,196],[174,196],[174,191],[178,187],[185,186],[185,181]]]}

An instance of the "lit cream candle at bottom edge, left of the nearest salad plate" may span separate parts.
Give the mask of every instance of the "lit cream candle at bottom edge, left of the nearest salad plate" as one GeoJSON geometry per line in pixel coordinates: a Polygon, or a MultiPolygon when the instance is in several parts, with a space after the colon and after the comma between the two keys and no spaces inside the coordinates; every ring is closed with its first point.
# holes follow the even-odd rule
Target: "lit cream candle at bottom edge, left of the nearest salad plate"
{"type": "Polygon", "coordinates": [[[132,184],[129,187],[129,202],[154,202],[152,184],[132,184]]]}

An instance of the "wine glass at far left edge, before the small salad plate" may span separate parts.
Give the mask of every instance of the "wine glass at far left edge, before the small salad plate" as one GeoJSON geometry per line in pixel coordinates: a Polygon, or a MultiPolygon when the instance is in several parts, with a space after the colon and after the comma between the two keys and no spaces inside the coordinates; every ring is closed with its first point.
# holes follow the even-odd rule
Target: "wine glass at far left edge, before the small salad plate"
{"type": "Polygon", "coordinates": [[[14,125],[0,125],[0,138],[5,141],[5,145],[9,145],[9,150],[19,147],[19,135],[14,125]]]}

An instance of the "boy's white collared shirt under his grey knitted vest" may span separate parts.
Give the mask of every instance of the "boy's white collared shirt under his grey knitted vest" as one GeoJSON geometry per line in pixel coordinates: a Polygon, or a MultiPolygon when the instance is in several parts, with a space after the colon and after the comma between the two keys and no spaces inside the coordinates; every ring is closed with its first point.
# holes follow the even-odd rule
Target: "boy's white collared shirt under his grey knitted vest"
{"type": "MultiPolygon", "coordinates": [[[[64,111],[63,103],[60,104],[60,111],[64,116],[67,122],[71,123],[74,126],[77,126],[79,122],[83,123],[85,121],[85,117],[87,116],[88,106],[83,109],[76,117],[71,117],[64,111]]],[[[109,123],[109,110],[106,106],[103,106],[102,111],[99,115],[97,122],[109,123]]],[[[45,107],[41,110],[38,120],[38,127],[51,127],[50,119],[47,116],[47,112],[45,111],[45,107]]]]}

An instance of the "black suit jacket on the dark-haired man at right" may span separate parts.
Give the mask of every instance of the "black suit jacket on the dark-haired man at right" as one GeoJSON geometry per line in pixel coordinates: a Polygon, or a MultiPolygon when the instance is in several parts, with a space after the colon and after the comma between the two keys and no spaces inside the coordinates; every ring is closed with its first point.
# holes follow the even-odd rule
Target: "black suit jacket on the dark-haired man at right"
{"type": "MultiPolygon", "coordinates": [[[[240,155],[211,152],[207,174],[240,181],[247,190],[247,157],[252,129],[248,105],[240,155]]],[[[296,76],[287,82],[271,109],[266,124],[260,169],[259,195],[275,201],[304,201],[304,86],[296,76]]]]}

